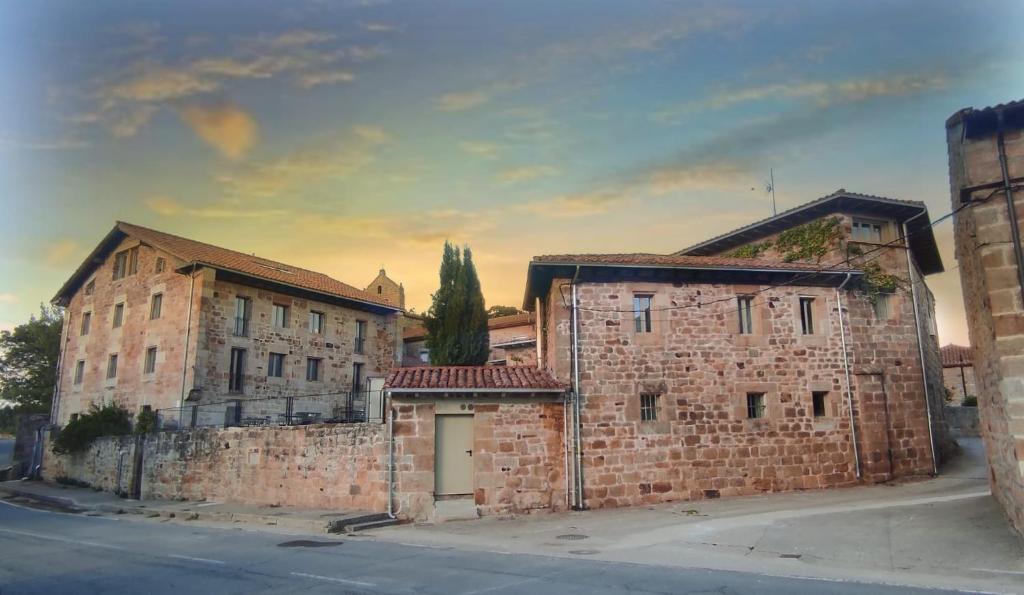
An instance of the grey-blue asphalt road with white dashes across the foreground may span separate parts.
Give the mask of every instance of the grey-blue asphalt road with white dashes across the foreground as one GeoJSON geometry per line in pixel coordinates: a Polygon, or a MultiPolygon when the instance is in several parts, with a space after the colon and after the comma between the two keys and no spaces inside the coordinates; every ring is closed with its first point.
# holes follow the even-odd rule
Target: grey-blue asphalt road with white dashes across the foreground
{"type": "Polygon", "coordinates": [[[92,517],[0,501],[0,593],[939,593],[92,517]]]}

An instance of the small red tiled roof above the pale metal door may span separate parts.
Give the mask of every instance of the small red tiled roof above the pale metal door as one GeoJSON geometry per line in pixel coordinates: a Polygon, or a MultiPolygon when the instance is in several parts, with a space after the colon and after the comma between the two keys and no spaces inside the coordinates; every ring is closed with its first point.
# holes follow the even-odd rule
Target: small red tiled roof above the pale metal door
{"type": "Polygon", "coordinates": [[[567,387],[534,366],[431,366],[399,368],[384,388],[395,392],[562,392],[567,387]]]}

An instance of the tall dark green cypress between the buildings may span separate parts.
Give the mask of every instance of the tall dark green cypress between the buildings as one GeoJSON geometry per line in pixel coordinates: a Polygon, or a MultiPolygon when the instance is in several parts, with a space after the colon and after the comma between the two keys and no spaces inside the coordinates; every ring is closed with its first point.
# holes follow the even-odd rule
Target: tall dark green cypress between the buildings
{"type": "Polygon", "coordinates": [[[444,243],[440,285],[424,318],[427,349],[434,366],[479,366],[489,351],[487,311],[480,280],[467,247],[444,243]]]}

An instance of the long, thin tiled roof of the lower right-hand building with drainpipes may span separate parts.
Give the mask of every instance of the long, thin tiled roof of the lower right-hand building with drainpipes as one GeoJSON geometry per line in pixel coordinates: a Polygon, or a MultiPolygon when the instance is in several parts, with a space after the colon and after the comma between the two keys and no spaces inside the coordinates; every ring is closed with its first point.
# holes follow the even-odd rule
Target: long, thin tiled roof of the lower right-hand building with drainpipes
{"type": "MultiPolygon", "coordinates": [[[[742,268],[765,270],[821,270],[822,265],[807,262],[782,262],[763,258],[728,258],[725,256],[684,256],[666,254],[551,254],[535,256],[534,262],[545,264],[605,264],[667,266],[682,268],[742,268]]],[[[850,268],[827,268],[834,272],[850,272],[850,268]]]]}

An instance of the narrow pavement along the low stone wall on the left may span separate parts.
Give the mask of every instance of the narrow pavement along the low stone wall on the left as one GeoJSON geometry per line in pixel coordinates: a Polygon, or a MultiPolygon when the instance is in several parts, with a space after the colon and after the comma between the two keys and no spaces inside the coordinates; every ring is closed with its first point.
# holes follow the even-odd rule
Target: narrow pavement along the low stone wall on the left
{"type": "Polygon", "coordinates": [[[383,523],[386,515],[366,511],[326,511],[289,507],[247,506],[223,502],[125,500],[108,492],[45,481],[3,481],[0,494],[47,504],[69,512],[138,514],[147,517],[267,525],[302,533],[358,530],[383,523]]]}

